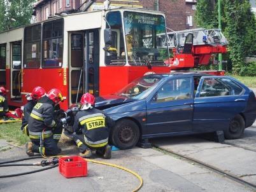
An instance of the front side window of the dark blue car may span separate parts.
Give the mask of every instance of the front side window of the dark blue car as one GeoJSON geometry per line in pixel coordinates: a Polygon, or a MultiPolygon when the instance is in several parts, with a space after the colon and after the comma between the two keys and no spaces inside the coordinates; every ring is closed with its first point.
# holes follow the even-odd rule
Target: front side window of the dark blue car
{"type": "Polygon", "coordinates": [[[190,78],[171,79],[162,85],[155,97],[156,102],[189,99],[191,96],[190,78]]]}

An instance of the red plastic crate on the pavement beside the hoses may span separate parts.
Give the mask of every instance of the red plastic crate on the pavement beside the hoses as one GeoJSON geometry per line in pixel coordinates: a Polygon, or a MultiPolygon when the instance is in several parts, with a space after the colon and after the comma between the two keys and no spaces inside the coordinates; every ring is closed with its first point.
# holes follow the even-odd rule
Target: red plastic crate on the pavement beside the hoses
{"type": "Polygon", "coordinates": [[[87,176],[87,161],[80,156],[59,158],[59,172],[66,178],[87,176]]]}

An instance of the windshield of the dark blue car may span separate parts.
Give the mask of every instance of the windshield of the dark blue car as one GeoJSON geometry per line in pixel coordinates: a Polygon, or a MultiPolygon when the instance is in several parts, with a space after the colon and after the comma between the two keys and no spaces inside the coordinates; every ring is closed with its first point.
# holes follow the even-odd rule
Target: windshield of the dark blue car
{"type": "Polygon", "coordinates": [[[135,79],[116,94],[131,99],[145,99],[155,89],[155,86],[157,86],[161,79],[162,76],[143,76],[142,78],[135,79]]]}

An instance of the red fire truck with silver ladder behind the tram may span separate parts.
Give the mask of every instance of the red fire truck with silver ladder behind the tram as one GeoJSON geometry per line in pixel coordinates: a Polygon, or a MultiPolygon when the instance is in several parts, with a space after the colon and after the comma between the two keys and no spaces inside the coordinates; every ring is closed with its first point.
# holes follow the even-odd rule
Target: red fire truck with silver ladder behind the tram
{"type": "MultiPolygon", "coordinates": [[[[163,36],[164,37],[164,36],[163,36]]],[[[220,29],[189,29],[167,32],[167,38],[161,38],[162,45],[168,45],[173,57],[166,61],[171,69],[191,69],[200,65],[209,65],[214,54],[227,53],[227,39],[220,29]]],[[[215,75],[224,75],[224,71],[203,71],[215,75]]]]}

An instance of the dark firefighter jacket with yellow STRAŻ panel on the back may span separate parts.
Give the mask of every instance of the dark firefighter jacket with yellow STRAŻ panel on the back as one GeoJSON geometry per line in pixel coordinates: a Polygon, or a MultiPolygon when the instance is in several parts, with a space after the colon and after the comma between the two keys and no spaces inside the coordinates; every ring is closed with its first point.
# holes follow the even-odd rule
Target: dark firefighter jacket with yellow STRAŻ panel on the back
{"type": "Polygon", "coordinates": [[[74,132],[84,135],[85,144],[90,147],[103,147],[108,144],[109,128],[113,120],[99,109],[79,111],[75,116],[74,132]]]}

